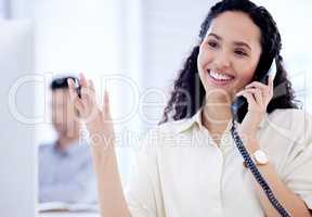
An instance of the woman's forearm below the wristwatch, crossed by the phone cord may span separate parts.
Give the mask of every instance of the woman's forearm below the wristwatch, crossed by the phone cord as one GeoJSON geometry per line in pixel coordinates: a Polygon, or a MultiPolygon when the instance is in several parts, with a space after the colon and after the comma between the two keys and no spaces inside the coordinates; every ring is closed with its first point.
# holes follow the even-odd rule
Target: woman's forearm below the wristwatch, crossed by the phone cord
{"type": "MultiPolygon", "coordinates": [[[[257,150],[258,144],[249,144],[250,153],[253,153],[257,150]]],[[[278,177],[274,166],[271,163],[265,165],[258,166],[259,171],[262,177],[265,179],[274,195],[278,200],[278,202],[287,209],[291,217],[311,217],[311,213],[308,209],[303,200],[300,199],[299,195],[294,193],[278,177]]],[[[271,205],[268,200],[264,191],[260,187],[260,184],[255,180],[257,193],[259,195],[261,205],[264,209],[264,213],[268,217],[277,217],[280,214],[275,210],[275,208],[271,205]]]]}

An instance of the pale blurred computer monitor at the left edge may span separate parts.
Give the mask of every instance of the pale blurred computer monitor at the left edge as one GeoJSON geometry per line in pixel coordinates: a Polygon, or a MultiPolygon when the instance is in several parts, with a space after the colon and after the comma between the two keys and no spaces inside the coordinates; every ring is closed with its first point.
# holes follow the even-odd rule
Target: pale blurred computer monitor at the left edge
{"type": "Polygon", "coordinates": [[[34,73],[32,29],[29,22],[0,21],[0,216],[5,217],[36,216],[35,125],[26,122],[35,114],[28,76],[34,73]]]}

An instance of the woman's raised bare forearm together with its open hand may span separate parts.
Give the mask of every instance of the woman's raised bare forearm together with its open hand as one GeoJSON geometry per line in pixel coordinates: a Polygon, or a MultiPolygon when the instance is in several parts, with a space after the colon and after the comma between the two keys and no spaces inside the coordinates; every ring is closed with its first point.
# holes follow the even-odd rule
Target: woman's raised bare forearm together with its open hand
{"type": "Polygon", "coordinates": [[[80,74],[80,95],[73,79],[68,79],[70,100],[90,132],[93,166],[98,179],[102,217],[128,217],[114,148],[114,125],[109,112],[109,97],[104,92],[103,107],[96,103],[95,88],[80,74]]]}

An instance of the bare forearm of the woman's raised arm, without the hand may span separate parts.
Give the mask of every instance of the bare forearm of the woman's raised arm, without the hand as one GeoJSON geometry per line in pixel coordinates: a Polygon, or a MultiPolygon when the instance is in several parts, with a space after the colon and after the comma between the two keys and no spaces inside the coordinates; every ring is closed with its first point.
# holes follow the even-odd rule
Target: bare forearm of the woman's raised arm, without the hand
{"type": "Polygon", "coordinates": [[[99,201],[102,217],[129,217],[130,213],[123,196],[117,157],[113,146],[92,145],[93,164],[98,177],[99,201]]]}

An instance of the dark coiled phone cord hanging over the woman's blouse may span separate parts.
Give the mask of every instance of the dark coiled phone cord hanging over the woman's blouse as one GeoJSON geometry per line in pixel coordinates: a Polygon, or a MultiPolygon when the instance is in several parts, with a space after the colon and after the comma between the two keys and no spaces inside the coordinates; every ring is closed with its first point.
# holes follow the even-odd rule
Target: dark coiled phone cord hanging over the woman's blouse
{"type": "Polygon", "coordinates": [[[277,199],[275,197],[275,195],[272,192],[271,188],[269,187],[269,184],[266,183],[264,178],[261,176],[259,169],[257,168],[257,166],[252,162],[249,153],[247,152],[246,148],[243,144],[243,141],[242,141],[240,137],[238,136],[237,128],[236,128],[236,123],[235,123],[234,119],[232,120],[231,133],[232,133],[233,140],[234,140],[239,153],[242,154],[242,156],[243,156],[243,158],[245,161],[245,164],[246,164],[247,168],[250,169],[250,171],[253,175],[255,179],[257,180],[257,182],[263,189],[263,191],[266,194],[266,196],[268,196],[269,201],[271,202],[271,204],[276,208],[276,210],[281,214],[282,217],[290,217],[290,215],[287,213],[287,210],[277,201],[277,199]]]}

